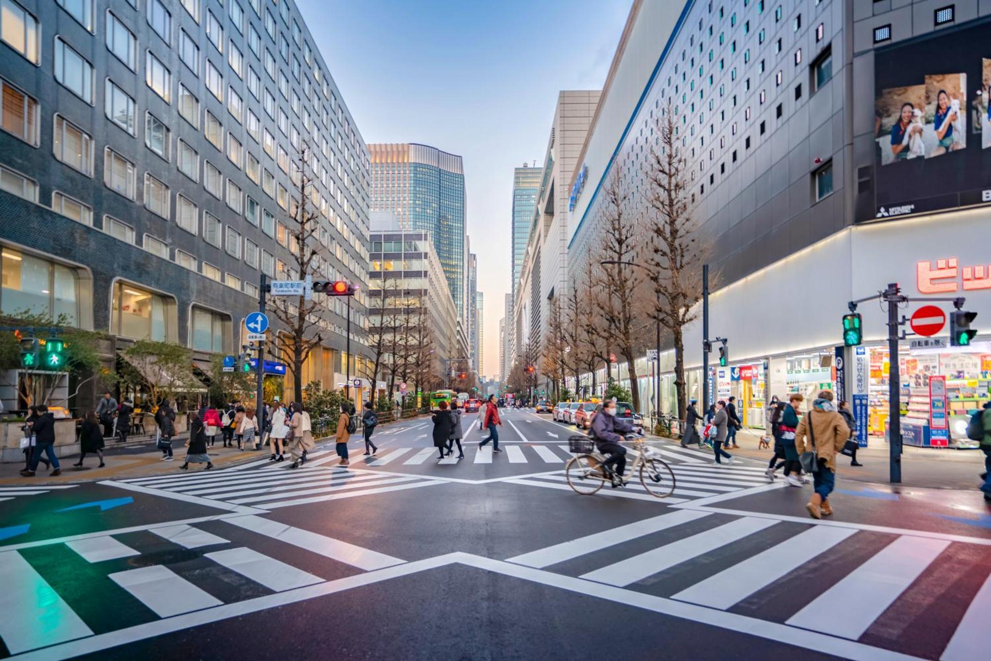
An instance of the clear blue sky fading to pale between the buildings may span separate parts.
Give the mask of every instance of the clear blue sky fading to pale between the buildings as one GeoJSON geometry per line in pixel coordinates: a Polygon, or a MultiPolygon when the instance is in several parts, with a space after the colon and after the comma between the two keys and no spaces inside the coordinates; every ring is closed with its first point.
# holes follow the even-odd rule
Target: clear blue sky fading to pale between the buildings
{"type": "Polygon", "coordinates": [[[512,168],[542,161],[559,90],[602,88],[631,0],[296,4],[365,142],[420,142],[463,157],[485,294],[482,373],[495,376],[512,168]]]}

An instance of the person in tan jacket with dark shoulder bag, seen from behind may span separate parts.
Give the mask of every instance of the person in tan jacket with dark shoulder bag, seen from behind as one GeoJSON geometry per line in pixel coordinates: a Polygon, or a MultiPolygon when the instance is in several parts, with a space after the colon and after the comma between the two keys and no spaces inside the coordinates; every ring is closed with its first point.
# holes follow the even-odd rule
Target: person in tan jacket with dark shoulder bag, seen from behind
{"type": "Polygon", "coordinates": [[[815,452],[815,466],[812,479],[815,491],[806,504],[806,510],[813,519],[832,514],[829,494],[836,482],[836,453],[850,437],[850,428],[843,417],[836,413],[832,403],[832,391],[820,391],[812,403],[812,409],[795,429],[795,447],[799,456],[803,452],[815,452]]]}

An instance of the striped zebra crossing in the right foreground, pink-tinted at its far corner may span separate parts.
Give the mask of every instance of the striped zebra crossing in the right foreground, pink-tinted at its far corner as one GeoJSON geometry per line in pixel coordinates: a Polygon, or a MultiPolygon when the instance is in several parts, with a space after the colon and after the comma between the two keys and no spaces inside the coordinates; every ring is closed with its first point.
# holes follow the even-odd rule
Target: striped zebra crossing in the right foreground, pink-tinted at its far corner
{"type": "Polygon", "coordinates": [[[991,648],[991,564],[978,559],[987,546],[966,546],[909,531],[676,510],[508,562],[912,658],[935,645],[924,658],[972,661],[991,648]],[[955,581],[963,577],[976,592],[955,581]]]}

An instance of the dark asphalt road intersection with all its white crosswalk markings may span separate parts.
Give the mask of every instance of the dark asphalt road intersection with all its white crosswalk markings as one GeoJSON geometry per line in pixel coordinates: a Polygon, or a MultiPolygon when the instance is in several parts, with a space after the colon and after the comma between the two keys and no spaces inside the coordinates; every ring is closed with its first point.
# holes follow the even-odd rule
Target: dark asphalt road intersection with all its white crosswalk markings
{"type": "Polygon", "coordinates": [[[991,649],[974,491],[810,487],[658,441],[676,478],[575,494],[574,427],[512,411],[465,458],[429,421],[306,466],[0,487],[0,657],[942,659],[991,649]],[[491,446],[491,444],[490,444],[491,446]]]}

